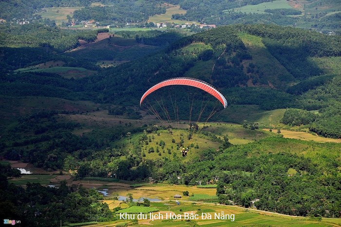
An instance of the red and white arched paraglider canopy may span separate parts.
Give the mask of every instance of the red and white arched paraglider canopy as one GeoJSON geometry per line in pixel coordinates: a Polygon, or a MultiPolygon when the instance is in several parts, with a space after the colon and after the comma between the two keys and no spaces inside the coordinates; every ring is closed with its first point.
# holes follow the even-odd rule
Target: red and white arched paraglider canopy
{"type": "Polygon", "coordinates": [[[143,100],[151,94],[153,91],[166,86],[171,85],[185,85],[185,86],[191,86],[191,87],[197,87],[200,88],[209,94],[213,95],[216,99],[219,100],[219,102],[224,106],[224,108],[227,107],[227,100],[226,98],[220,93],[215,87],[211,86],[210,84],[206,83],[205,81],[193,79],[189,77],[176,77],[171,78],[168,80],[164,80],[153,87],[149,88],[141,97],[140,105],[142,104],[143,100]]]}

